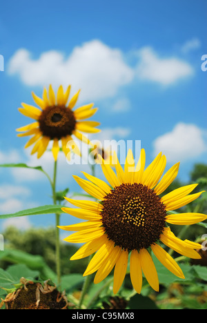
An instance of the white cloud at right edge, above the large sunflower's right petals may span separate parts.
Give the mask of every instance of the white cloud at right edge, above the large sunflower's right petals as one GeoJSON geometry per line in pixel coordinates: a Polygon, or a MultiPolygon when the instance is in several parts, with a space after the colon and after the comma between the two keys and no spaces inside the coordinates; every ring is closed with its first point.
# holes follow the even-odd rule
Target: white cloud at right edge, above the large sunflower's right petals
{"type": "Polygon", "coordinates": [[[194,124],[179,123],[171,132],[155,139],[154,155],[166,155],[167,161],[186,161],[207,151],[204,132],[194,124]]]}

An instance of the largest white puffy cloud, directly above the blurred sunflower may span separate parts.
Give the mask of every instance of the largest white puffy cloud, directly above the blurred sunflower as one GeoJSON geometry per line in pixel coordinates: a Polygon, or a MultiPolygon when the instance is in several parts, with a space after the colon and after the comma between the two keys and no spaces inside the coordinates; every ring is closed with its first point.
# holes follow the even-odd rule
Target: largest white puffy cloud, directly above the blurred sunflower
{"type": "Polygon", "coordinates": [[[9,73],[19,74],[28,86],[51,83],[55,88],[60,84],[66,88],[72,84],[75,91],[81,88],[82,100],[112,97],[134,76],[132,68],[124,62],[121,50],[110,48],[99,40],[75,47],[68,57],[50,50],[35,60],[28,50],[19,49],[10,59],[9,73]]]}

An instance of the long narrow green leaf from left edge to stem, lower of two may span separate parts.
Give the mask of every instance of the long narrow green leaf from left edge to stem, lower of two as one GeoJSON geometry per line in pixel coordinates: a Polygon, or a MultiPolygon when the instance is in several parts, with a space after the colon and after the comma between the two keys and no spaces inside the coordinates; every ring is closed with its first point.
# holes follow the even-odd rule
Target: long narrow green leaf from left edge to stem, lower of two
{"type": "Polygon", "coordinates": [[[8,217],[23,217],[26,215],[41,215],[50,213],[63,213],[60,205],[45,205],[38,206],[37,208],[28,208],[27,210],[19,211],[16,213],[0,215],[0,219],[7,219],[8,217]]]}

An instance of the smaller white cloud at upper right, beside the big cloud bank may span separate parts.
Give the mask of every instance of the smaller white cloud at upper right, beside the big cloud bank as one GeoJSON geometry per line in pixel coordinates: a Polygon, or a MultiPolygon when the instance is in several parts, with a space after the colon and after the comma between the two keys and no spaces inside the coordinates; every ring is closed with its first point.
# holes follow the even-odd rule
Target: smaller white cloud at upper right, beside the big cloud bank
{"type": "Polygon", "coordinates": [[[137,77],[140,80],[154,81],[168,86],[179,79],[193,75],[193,68],[176,57],[159,58],[150,47],[141,48],[137,52],[137,77]]]}

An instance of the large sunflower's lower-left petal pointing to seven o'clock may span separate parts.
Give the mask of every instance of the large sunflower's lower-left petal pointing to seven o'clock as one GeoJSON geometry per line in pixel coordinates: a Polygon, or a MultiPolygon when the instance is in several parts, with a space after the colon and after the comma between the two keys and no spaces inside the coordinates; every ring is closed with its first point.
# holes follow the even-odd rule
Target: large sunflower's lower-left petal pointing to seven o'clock
{"type": "Polygon", "coordinates": [[[101,267],[98,269],[94,279],[95,284],[102,282],[102,280],[104,280],[104,278],[110,274],[112,268],[114,268],[117,260],[119,259],[120,254],[121,247],[115,246],[115,248],[113,248],[111,253],[108,255],[108,258],[105,260],[105,262],[102,262],[101,267]]]}

